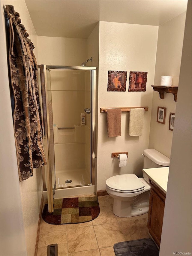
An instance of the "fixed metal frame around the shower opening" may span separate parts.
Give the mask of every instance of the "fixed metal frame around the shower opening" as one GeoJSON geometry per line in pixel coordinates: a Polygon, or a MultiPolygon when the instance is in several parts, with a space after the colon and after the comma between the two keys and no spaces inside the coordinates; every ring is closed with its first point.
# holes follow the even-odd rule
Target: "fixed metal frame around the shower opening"
{"type": "MultiPolygon", "coordinates": [[[[57,65],[45,65],[47,69],[62,69],[62,70],[89,70],[91,76],[91,184],[62,187],[59,189],[75,188],[82,186],[95,185],[96,182],[96,67],[79,67],[79,66],[57,66],[57,65]]],[[[44,183],[44,182],[43,182],[44,183]]],[[[45,184],[44,184],[45,187],[45,184]]],[[[56,188],[57,189],[57,188],[56,188]]]]}

